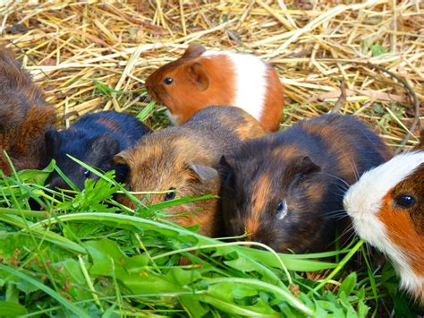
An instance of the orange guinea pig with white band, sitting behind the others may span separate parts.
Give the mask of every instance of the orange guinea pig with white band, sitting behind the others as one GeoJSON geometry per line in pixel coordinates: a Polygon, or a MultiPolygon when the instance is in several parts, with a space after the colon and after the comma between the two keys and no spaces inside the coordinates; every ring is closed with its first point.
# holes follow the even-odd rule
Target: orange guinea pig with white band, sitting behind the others
{"type": "Polygon", "coordinates": [[[267,132],[278,130],[283,86],[271,65],[256,56],[207,51],[191,44],[179,59],[152,73],[146,87],[168,107],[176,124],[208,106],[241,107],[267,132]]]}

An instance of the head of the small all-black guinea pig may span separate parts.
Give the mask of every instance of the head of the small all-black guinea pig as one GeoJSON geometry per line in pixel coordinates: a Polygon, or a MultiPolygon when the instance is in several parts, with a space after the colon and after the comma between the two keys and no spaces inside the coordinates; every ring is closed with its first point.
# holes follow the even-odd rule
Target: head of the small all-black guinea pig
{"type": "MultiPolygon", "coordinates": [[[[120,151],[119,142],[109,133],[104,133],[95,138],[73,132],[47,131],[46,135],[47,154],[50,159],[55,159],[56,165],[64,175],[68,176],[72,183],[78,188],[84,188],[87,178],[98,179],[98,176],[88,169],[69,158],[80,159],[82,162],[101,171],[115,170],[117,178],[124,174],[125,166],[118,167],[114,164],[114,155],[120,151]]],[[[52,187],[69,189],[70,186],[64,181],[62,176],[53,172],[47,183],[52,187]]]]}

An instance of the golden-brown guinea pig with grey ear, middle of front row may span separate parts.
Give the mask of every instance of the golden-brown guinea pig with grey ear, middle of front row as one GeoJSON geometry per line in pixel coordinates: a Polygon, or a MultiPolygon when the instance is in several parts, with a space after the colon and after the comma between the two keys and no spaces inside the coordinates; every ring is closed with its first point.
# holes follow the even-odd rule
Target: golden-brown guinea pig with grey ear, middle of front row
{"type": "MultiPolygon", "coordinates": [[[[264,134],[258,121],[238,107],[207,107],[184,125],[172,126],[143,138],[135,148],[115,158],[130,167],[129,189],[174,191],[137,195],[144,204],[173,200],[175,197],[218,194],[220,178],[216,170],[223,154],[240,146],[243,140],[264,134]]],[[[123,204],[136,208],[128,197],[123,204]]],[[[199,233],[218,236],[222,217],[218,200],[208,199],[166,208],[170,220],[182,225],[200,226],[199,233]]]]}

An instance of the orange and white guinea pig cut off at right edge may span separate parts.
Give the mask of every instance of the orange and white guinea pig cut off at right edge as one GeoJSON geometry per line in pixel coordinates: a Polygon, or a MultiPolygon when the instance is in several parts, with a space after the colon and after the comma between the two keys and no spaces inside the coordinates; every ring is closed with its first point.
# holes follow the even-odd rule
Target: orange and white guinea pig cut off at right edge
{"type": "Polygon", "coordinates": [[[343,203],[355,231],[393,261],[401,286],[424,305],[422,141],[416,150],[363,174],[344,195],[343,203]]]}

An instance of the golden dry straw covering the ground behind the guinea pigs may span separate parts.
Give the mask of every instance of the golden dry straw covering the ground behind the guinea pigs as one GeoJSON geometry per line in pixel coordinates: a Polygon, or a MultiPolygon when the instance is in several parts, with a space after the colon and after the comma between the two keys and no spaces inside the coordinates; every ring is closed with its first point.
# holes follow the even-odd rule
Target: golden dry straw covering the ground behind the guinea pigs
{"type": "MultiPolygon", "coordinates": [[[[413,103],[401,82],[367,61],[408,82],[422,116],[420,0],[12,1],[0,13],[2,42],[46,91],[63,126],[98,109],[140,112],[148,102],[140,94],[145,79],[192,41],[273,64],[286,93],[282,125],[332,109],[344,82],[348,97],[340,112],[397,147],[414,119],[413,103]],[[102,96],[93,79],[139,92],[102,96]]],[[[147,122],[161,125],[152,116],[147,122]]]]}

